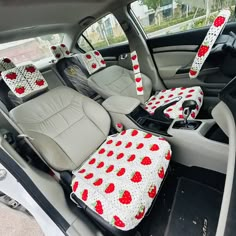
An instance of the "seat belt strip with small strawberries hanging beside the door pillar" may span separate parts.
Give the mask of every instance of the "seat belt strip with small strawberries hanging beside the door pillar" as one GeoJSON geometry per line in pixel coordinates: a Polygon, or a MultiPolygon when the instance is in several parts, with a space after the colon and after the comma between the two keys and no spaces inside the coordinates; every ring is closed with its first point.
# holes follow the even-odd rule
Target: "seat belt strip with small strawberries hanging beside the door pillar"
{"type": "Polygon", "coordinates": [[[136,93],[138,96],[142,96],[142,102],[144,103],[144,87],[143,87],[143,80],[142,75],[140,73],[140,64],[138,61],[138,55],[136,51],[131,52],[130,54],[132,65],[133,65],[133,72],[134,72],[134,81],[136,84],[136,93]]]}

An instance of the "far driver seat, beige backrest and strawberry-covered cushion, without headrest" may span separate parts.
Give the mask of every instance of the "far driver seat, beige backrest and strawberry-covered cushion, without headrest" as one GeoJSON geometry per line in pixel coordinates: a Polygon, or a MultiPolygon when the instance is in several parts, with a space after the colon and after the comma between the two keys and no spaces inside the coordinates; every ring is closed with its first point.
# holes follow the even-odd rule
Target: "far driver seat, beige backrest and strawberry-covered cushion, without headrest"
{"type": "Polygon", "coordinates": [[[191,118],[196,118],[203,103],[203,91],[201,87],[172,88],[156,92],[150,97],[152,93],[151,79],[144,74],[141,74],[141,77],[144,91],[141,96],[136,93],[134,73],[117,65],[110,66],[91,75],[88,78],[88,84],[104,99],[115,95],[137,98],[141,101],[145,110],[151,115],[161,106],[176,101],[176,103],[172,103],[172,105],[167,106],[164,110],[165,117],[170,119],[182,119],[183,102],[186,100],[194,100],[197,106],[196,109],[191,112],[191,118]]]}

